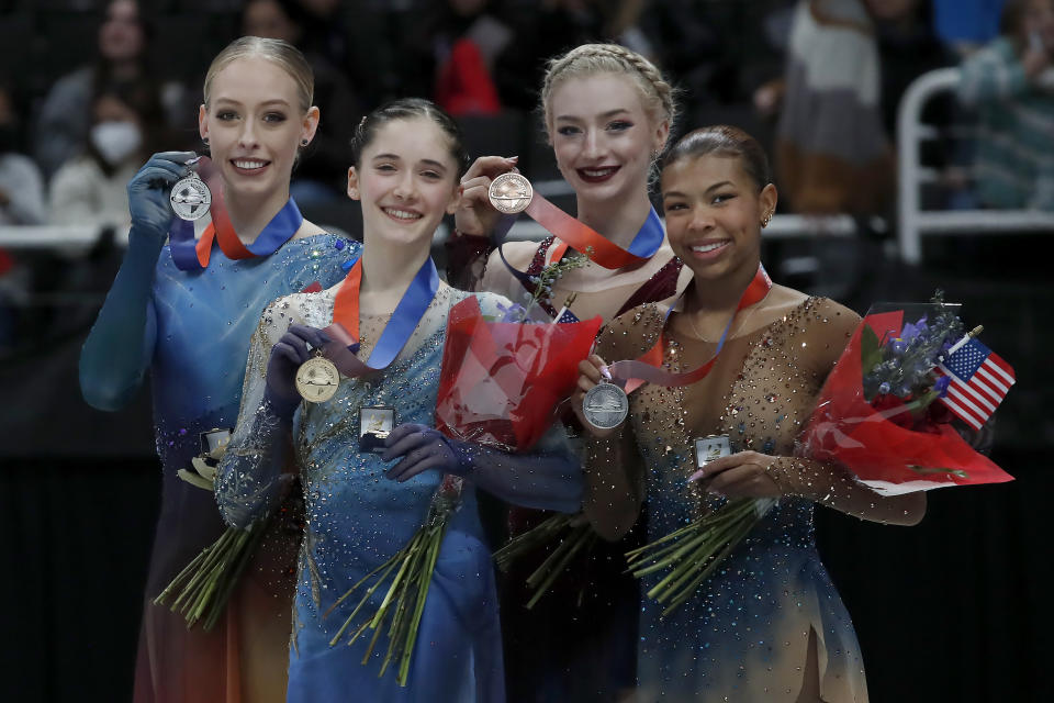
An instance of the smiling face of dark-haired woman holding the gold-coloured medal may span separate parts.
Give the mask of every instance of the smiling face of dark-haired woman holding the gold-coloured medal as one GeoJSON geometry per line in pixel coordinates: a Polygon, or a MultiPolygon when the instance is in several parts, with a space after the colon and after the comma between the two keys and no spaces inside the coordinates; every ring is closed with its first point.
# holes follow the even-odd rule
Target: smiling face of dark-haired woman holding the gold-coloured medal
{"type": "Polygon", "coordinates": [[[428,246],[461,196],[450,137],[424,116],[378,127],[348,169],[348,197],[362,203],[363,241],[428,246]]]}

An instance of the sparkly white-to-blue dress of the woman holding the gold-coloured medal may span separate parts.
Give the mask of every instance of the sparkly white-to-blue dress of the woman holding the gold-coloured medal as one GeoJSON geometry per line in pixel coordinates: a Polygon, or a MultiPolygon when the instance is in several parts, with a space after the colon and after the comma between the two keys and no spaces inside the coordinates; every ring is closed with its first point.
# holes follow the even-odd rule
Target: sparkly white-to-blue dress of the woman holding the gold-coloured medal
{"type": "MultiPolygon", "coordinates": [[[[386,649],[382,637],[367,666],[360,662],[369,637],[352,646],[330,639],[355,609],[349,599],[325,616],[334,601],[403,547],[424,521],[439,486],[437,471],[404,483],[386,479],[391,464],[359,453],[359,409],[395,408],[397,424],[434,424],[447,314],[470,293],[440,286],[436,298],[396,360],[385,370],[360,379],[341,379],[337,394],[324,404],[302,404],[293,422],[292,453],[301,472],[307,527],[301,548],[294,625],[289,666],[290,701],[502,701],[504,671],[501,629],[490,549],[484,544],[471,480],[462,505],[442,542],[428,591],[408,685],[394,672],[378,678],[386,649]]],[[[239,503],[260,514],[273,505],[278,478],[272,443],[253,436],[260,422],[270,347],[291,323],[325,327],[333,317],[335,289],[290,295],[270,305],[253,341],[246,373],[245,404],[227,457],[217,478],[217,500],[228,517],[239,503]]],[[[484,314],[500,314],[503,298],[479,293],[484,314]]],[[[367,358],[388,317],[360,317],[360,358],[367,358]]],[[[266,405],[262,412],[267,412],[266,405]]],[[[264,425],[267,426],[266,420],[264,425]]],[[[562,429],[554,428],[538,450],[565,450],[562,429]]],[[[363,607],[375,612],[384,596],[373,593],[363,607]]]]}

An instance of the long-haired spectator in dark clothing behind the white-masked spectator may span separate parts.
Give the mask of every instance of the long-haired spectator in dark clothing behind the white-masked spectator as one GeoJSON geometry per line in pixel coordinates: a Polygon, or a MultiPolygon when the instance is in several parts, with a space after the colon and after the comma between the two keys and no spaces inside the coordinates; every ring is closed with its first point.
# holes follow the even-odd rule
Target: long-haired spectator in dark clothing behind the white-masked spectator
{"type": "Polygon", "coordinates": [[[41,109],[34,130],[34,156],[46,177],[85,144],[92,124],[92,102],[102,86],[149,78],[145,59],[148,38],[134,0],[113,0],[106,5],[94,62],[60,78],[41,109]]]}

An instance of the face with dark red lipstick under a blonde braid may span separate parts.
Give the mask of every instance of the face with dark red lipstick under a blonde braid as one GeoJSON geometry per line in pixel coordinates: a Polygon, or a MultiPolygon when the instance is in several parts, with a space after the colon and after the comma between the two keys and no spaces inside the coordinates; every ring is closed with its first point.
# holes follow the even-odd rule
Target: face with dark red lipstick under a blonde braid
{"type": "Polygon", "coordinates": [[[649,115],[632,78],[567,78],[553,89],[548,113],[557,165],[579,198],[607,201],[647,189],[652,154],[670,126],[649,115]]]}

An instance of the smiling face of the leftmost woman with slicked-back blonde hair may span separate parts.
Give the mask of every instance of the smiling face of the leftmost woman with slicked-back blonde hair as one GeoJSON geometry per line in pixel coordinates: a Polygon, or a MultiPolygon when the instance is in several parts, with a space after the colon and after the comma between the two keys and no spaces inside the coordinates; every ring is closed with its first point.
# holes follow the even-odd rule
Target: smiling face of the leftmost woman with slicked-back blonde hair
{"type": "Polygon", "coordinates": [[[238,58],[220,70],[199,114],[201,137],[237,198],[284,202],[296,149],[317,126],[318,109],[304,113],[293,78],[261,57],[238,58]]]}

